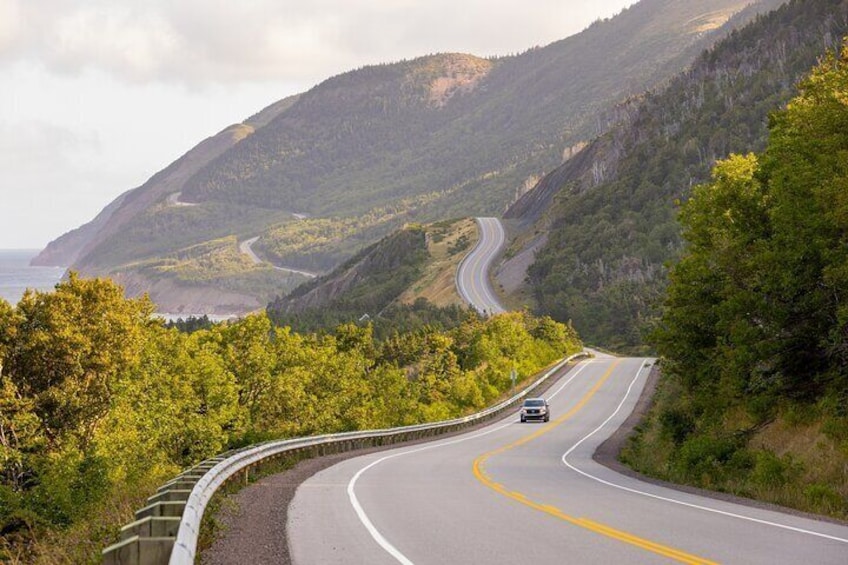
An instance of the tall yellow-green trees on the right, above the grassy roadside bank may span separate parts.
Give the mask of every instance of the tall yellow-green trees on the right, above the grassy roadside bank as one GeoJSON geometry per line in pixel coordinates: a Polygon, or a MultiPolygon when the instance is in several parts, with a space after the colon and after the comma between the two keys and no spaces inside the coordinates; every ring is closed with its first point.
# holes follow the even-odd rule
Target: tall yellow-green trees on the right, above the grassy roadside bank
{"type": "Polygon", "coordinates": [[[848,44],[772,116],[761,157],[719,162],[683,207],[653,340],[702,409],[741,403],[761,422],[780,397],[848,387],[846,92],[848,44]]]}

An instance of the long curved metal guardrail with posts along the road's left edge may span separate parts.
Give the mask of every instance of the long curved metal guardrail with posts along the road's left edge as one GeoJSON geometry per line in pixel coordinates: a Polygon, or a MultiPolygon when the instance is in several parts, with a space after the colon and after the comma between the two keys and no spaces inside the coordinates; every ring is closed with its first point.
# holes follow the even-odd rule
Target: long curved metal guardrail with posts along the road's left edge
{"type": "Polygon", "coordinates": [[[200,523],[209,501],[223,484],[240,471],[262,460],[284,454],[305,452],[316,456],[340,453],[461,430],[494,418],[513,407],[563,366],[588,355],[583,351],[559,361],[511,398],[463,418],[384,430],[270,441],[206,460],[160,487],[158,493],[148,499],[150,504],[136,512],[136,521],[122,528],[122,541],[103,550],[103,562],[106,565],[191,565],[197,552],[200,523]]]}

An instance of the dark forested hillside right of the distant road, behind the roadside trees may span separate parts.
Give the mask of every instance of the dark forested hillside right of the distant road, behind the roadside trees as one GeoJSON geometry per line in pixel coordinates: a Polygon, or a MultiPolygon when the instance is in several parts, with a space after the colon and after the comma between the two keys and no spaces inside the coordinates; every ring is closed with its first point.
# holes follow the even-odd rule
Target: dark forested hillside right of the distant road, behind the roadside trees
{"type": "Polygon", "coordinates": [[[844,0],[793,0],[702,54],[667,88],[621,105],[626,123],[507,214],[547,232],[530,267],[538,311],[590,343],[639,349],[681,249],[676,204],[717,159],[764,147],[768,116],[848,34],[844,0]]]}

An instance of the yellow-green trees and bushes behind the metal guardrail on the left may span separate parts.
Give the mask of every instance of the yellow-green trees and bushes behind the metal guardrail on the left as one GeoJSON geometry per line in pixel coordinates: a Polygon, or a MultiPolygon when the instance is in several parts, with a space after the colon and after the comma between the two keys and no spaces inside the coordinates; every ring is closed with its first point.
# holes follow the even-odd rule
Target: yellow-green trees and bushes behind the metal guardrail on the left
{"type": "Polygon", "coordinates": [[[0,300],[0,561],[99,562],[181,468],[267,438],[413,424],[479,410],[579,348],[524,313],[376,340],[265,315],[183,332],[107,280],[0,300]]]}

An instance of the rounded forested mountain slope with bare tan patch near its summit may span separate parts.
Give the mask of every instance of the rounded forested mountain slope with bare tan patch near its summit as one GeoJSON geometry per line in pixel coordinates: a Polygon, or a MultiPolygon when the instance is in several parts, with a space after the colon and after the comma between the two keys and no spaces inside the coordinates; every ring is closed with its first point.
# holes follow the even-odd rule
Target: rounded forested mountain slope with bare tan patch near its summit
{"type": "Polygon", "coordinates": [[[464,186],[429,207],[470,197],[472,212],[499,211],[595,132],[595,110],[682,69],[703,32],[742,6],[649,0],[518,57],[437,55],[334,77],[196,175],[186,196],[360,215],[464,186]]]}

